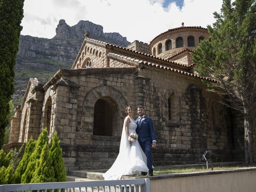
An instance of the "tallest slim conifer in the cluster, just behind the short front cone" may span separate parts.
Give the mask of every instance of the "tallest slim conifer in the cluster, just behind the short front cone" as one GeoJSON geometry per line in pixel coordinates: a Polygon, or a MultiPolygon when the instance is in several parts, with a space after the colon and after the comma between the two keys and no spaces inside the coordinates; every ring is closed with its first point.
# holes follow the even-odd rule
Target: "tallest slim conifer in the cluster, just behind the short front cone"
{"type": "Polygon", "coordinates": [[[36,141],[35,149],[31,154],[28,166],[26,167],[26,170],[21,177],[21,183],[30,183],[33,173],[36,170],[36,165],[40,159],[42,148],[45,144],[48,144],[48,141],[48,132],[47,129],[44,128],[42,133],[39,135],[38,140],[36,141]]]}

